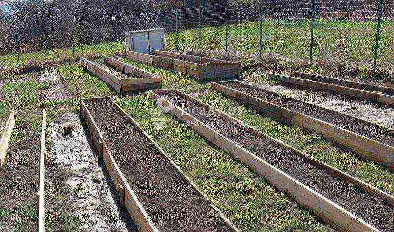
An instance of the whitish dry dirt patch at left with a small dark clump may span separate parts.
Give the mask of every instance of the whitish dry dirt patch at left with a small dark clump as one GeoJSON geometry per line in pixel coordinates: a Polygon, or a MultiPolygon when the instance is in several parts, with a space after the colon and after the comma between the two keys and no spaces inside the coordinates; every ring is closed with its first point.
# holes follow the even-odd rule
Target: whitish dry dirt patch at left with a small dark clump
{"type": "Polygon", "coordinates": [[[137,232],[129,215],[118,205],[117,191],[97,151],[91,148],[86,131],[77,114],[63,115],[50,124],[52,158],[59,172],[69,173],[66,184],[71,191],[61,203],[75,208],[72,216],[81,220],[78,231],[137,232]],[[69,135],[63,134],[65,122],[74,125],[69,135]]]}

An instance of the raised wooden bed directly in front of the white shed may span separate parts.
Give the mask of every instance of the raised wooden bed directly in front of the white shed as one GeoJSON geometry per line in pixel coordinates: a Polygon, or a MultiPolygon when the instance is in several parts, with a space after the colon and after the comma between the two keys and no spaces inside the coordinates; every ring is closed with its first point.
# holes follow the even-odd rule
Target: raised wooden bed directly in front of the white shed
{"type": "Polygon", "coordinates": [[[126,51],[131,60],[196,77],[199,81],[239,78],[242,65],[225,60],[152,50],[153,55],[126,51]]]}

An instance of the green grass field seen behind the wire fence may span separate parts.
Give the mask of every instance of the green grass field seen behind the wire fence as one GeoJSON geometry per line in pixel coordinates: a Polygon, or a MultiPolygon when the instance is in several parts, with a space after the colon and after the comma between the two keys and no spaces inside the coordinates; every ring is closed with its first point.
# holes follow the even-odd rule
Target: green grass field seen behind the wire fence
{"type": "MultiPolygon", "coordinates": [[[[263,21],[263,53],[280,54],[288,58],[309,59],[310,19],[292,20],[264,20],[263,21]]],[[[168,47],[175,48],[175,32],[166,34],[168,47]]],[[[392,69],[394,65],[394,22],[382,22],[379,40],[380,69],[392,69]]],[[[345,65],[356,65],[372,69],[376,37],[376,23],[372,21],[331,21],[317,19],[314,29],[314,61],[342,60],[345,65]]],[[[226,47],[226,27],[203,27],[201,30],[203,50],[217,50],[222,53],[226,47]]],[[[199,48],[198,29],[179,31],[179,48],[199,48]]],[[[247,54],[259,54],[260,50],[260,22],[249,22],[229,26],[229,48],[247,54]]],[[[123,40],[96,45],[77,47],[75,54],[86,55],[99,53],[114,55],[124,51],[123,40]]],[[[21,55],[21,62],[28,59],[59,60],[72,57],[71,49],[57,49],[21,55]]],[[[3,56],[1,61],[7,66],[17,66],[18,57],[3,56]]]]}

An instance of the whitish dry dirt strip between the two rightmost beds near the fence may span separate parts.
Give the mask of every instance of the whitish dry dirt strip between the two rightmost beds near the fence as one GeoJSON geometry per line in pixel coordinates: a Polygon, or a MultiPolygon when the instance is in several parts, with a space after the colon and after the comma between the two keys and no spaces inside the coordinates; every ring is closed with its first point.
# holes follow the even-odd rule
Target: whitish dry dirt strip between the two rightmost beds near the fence
{"type": "Polygon", "coordinates": [[[386,104],[378,104],[367,99],[349,97],[330,91],[321,91],[312,88],[302,88],[288,84],[269,84],[268,81],[255,83],[250,81],[253,75],[261,76],[261,73],[254,73],[247,79],[243,80],[254,86],[278,92],[298,100],[325,107],[346,115],[360,117],[362,119],[384,125],[387,127],[394,126],[394,108],[386,104]]]}

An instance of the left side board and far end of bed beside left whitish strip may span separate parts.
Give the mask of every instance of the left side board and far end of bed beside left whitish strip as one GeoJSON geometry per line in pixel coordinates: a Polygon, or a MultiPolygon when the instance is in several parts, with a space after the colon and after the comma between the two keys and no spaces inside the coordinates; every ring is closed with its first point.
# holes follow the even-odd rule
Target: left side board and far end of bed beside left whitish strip
{"type": "MultiPolygon", "coordinates": [[[[93,99],[100,99],[100,98],[93,98],[93,99]]],[[[108,97],[103,97],[102,99],[110,99],[108,97]]],[[[149,215],[143,208],[141,202],[138,200],[137,196],[135,195],[134,191],[131,190],[130,184],[126,180],[126,177],[119,169],[118,165],[116,164],[115,159],[113,158],[111,152],[107,148],[107,145],[101,135],[101,131],[97,126],[96,122],[94,121],[93,117],[91,116],[86,104],[84,101],[92,100],[92,98],[84,98],[80,100],[80,107],[81,107],[81,115],[87,122],[89,130],[95,131],[95,133],[99,134],[101,139],[101,147],[97,146],[100,155],[102,156],[105,166],[108,169],[108,173],[111,176],[112,181],[114,182],[114,186],[121,193],[121,187],[124,189],[125,195],[122,198],[125,199],[125,207],[127,208],[131,218],[137,225],[139,231],[141,232],[159,232],[157,227],[154,225],[152,220],[150,219],[149,215]],[[120,187],[121,186],[121,187],[120,187]]],[[[122,192],[123,192],[122,191],[122,192]]]]}

